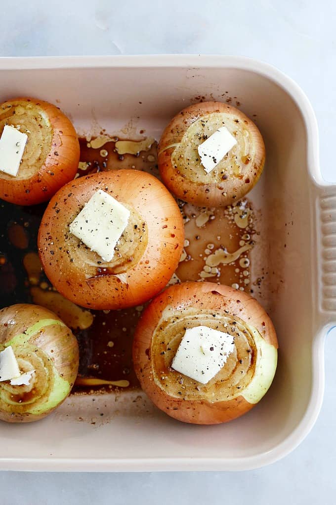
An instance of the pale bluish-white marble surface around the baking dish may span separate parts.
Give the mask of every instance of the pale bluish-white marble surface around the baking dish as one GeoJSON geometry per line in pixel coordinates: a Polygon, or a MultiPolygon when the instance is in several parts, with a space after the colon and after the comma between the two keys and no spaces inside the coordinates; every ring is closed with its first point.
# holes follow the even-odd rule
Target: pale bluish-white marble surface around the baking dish
{"type": "MultiPolygon", "coordinates": [[[[324,177],[336,182],[336,4],[330,0],[2,0],[0,56],[235,54],[279,67],[306,91],[320,129],[324,177]],[[20,7],[19,7],[20,5],[20,7]]],[[[336,331],[325,346],[319,419],[291,455],[244,473],[0,473],[4,505],[334,502],[336,331]]],[[[0,449],[1,451],[1,449],[0,449]]]]}

